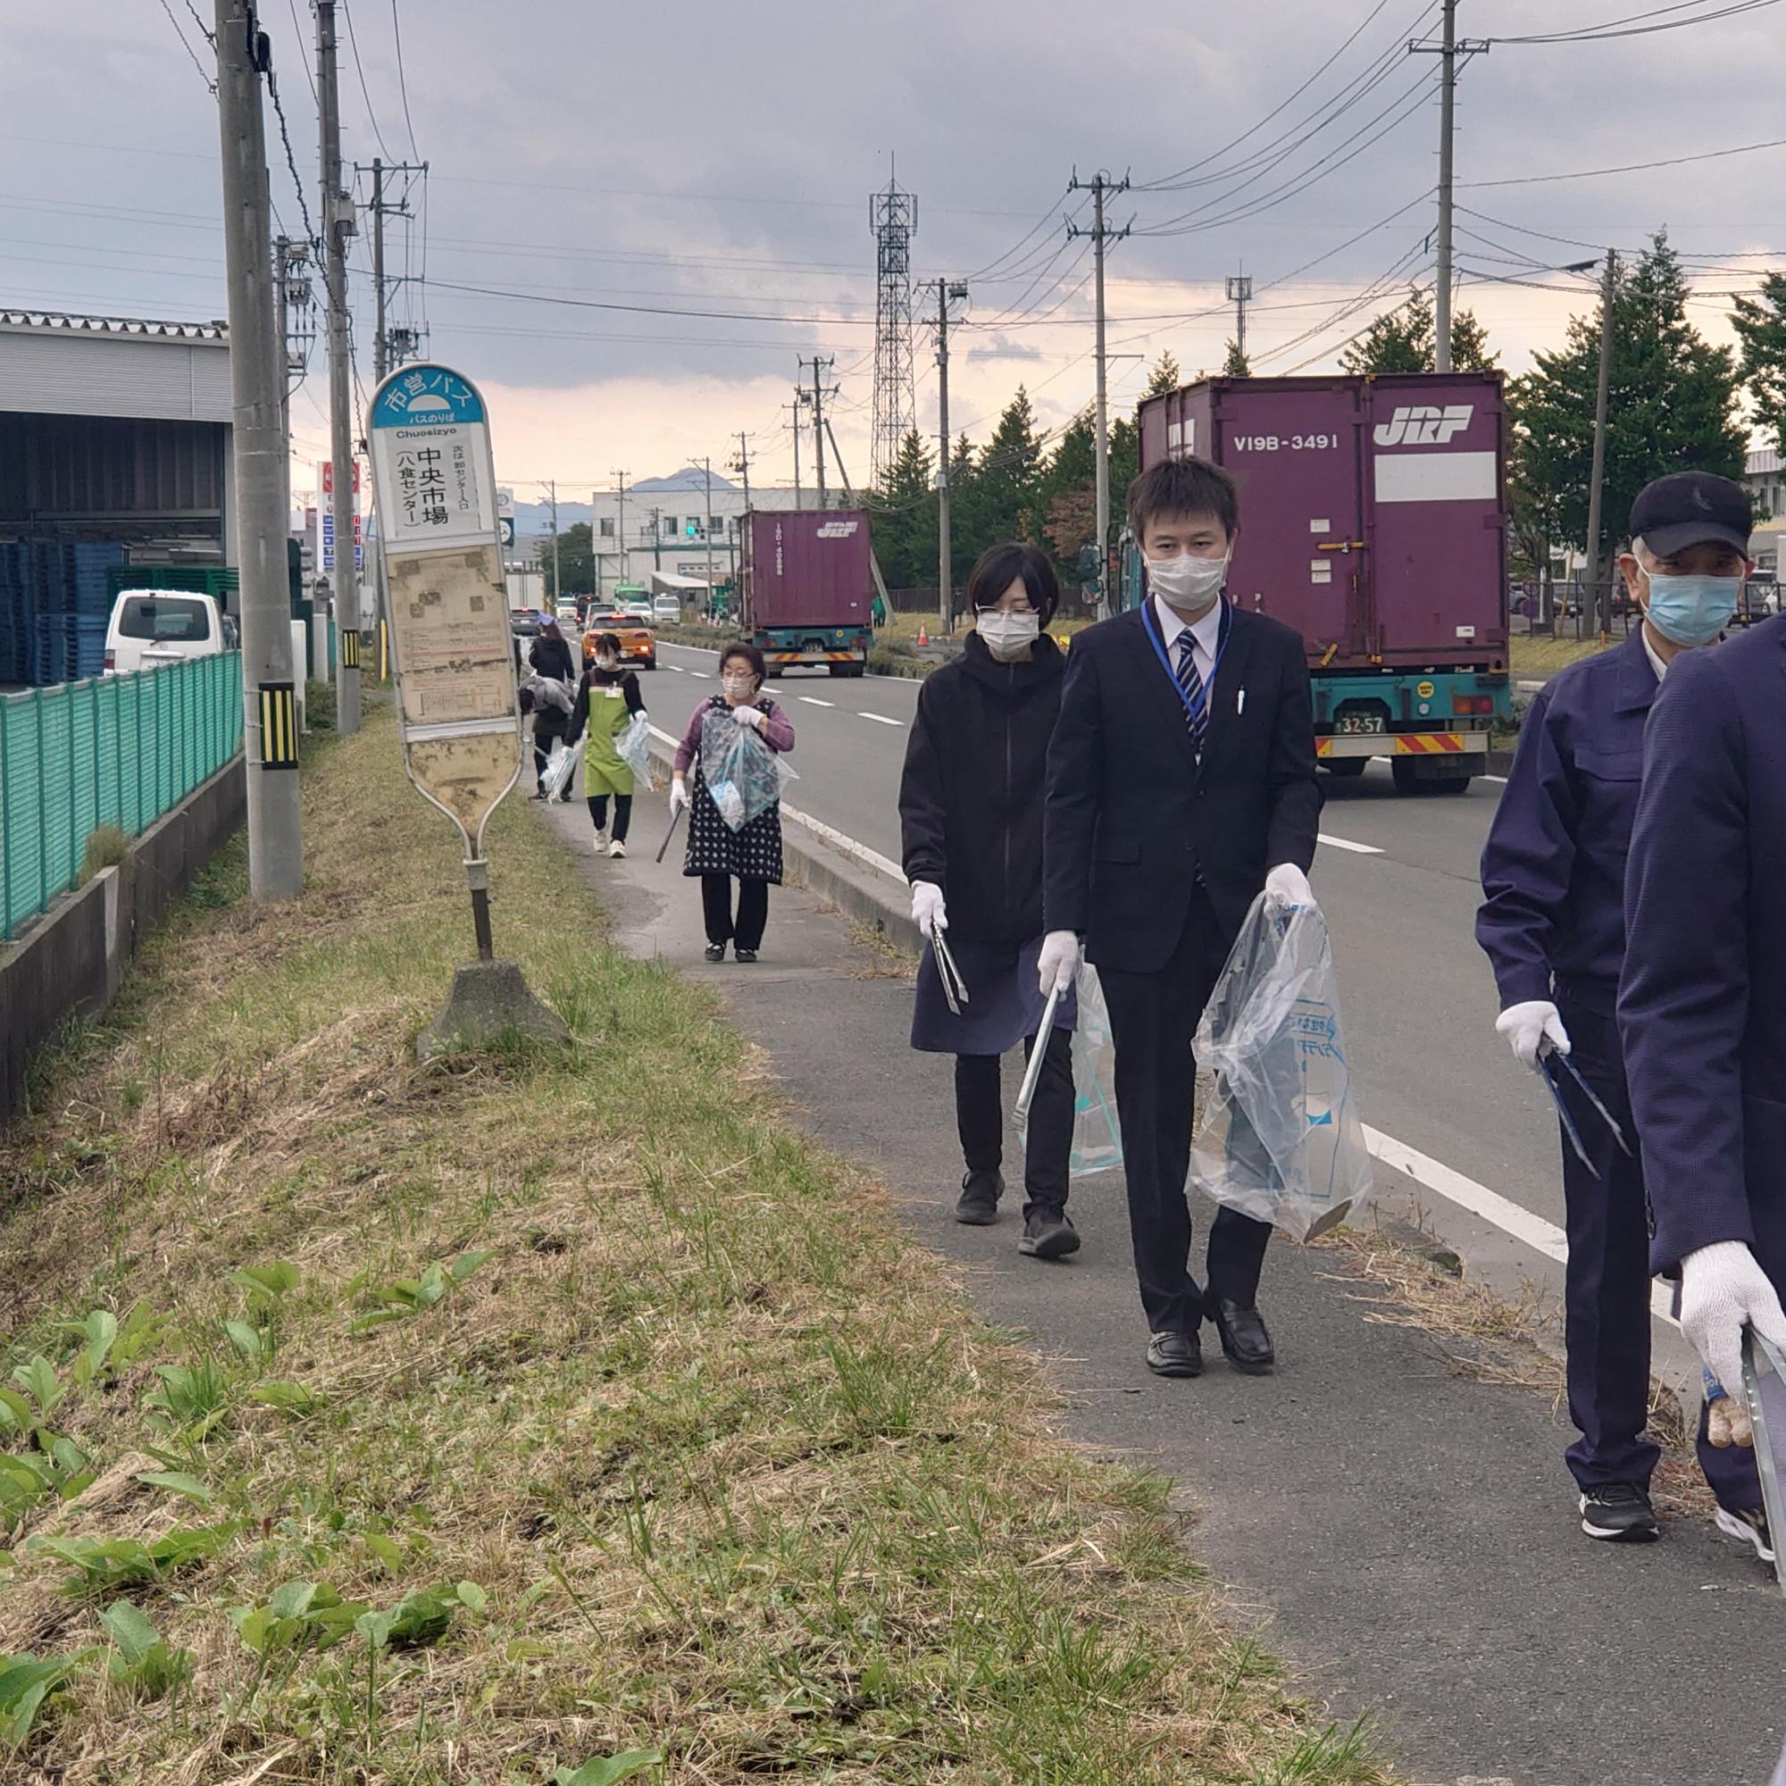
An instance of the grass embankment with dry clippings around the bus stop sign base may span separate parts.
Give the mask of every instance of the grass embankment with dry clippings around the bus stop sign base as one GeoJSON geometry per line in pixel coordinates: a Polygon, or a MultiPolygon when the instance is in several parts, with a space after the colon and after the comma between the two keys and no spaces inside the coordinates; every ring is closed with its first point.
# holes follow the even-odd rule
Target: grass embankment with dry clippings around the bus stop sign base
{"type": "Polygon", "coordinates": [[[522,802],[563,1052],[414,1064],[470,923],[388,707],[305,850],[0,1136],[0,1777],[1379,1779],[522,802]]]}

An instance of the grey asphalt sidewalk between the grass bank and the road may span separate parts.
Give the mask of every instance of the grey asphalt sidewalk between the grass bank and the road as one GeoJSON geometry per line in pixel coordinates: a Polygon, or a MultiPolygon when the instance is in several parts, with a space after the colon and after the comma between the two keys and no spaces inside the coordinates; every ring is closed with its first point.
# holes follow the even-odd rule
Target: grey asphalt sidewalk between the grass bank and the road
{"type": "Polygon", "coordinates": [[[1057,1266],[1016,1254],[1011,1214],[993,1229],[948,1220],[948,1068],[907,1047],[904,975],[800,889],[772,897],[755,968],[709,966],[680,839],[652,863],[659,798],[639,800],[627,861],[589,859],[580,802],[548,822],[584,857],[616,941],[723,993],[811,1131],[886,1177],[911,1227],[970,1273],[988,1322],[1056,1357],[1070,1436],[1175,1477],[1236,1620],[1256,1620],[1334,1716],[1375,1713],[1413,1779],[1768,1779],[1786,1731],[1786,1606],[1745,1548],[1697,1520],[1647,1548],[1590,1543],[1559,1411],[1470,1373],[1461,1341],[1377,1318],[1384,1291],[1331,1250],[1273,1243],[1261,1300],[1275,1377],[1239,1377],[1213,1345],[1200,1381],[1148,1377],[1114,1179],[1075,1189],[1086,1245],[1057,1266]]]}

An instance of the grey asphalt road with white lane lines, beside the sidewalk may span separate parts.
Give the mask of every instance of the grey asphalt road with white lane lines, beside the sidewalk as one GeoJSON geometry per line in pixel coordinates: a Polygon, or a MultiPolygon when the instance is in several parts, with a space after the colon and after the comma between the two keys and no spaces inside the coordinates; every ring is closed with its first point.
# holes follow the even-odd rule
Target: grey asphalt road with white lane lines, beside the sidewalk
{"type": "MultiPolygon", "coordinates": [[[[663,647],[663,661],[647,697],[655,722],[680,732],[704,688],[695,679],[711,677],[718,655],[663,647]],[[682,682],[693,682],[686,698],[673,686],[682,682]]],[[[773,684],[798,739],[802,779],[789,805],[895,863],[898,775],[918,688],[811,673],[773,684]]],[[[1373,1129],[1448,1168],[1418,1186],[1386,1175],[1386,1202],[1413,1204],[1486,1282],[1509,1295],[1536,1284],[1554,1307],[1557,1259],[1440,1189],[1457,1191],[1450,1175],[1461,1175],[1470,1184],[1457,1195],[1486,1186],[1550,1229],[1563,1225],[1550,1100],[1493,1031],[1493,979],[1473,934],[1477,861],[1500,784],[1479,779],[1466,795],[1411,798],[1395,793],[1379,761],[1357,780],[1323,777],[1323,786],[1325,841],[1313,880],[1334,932],[1361,1107],[1373,1129]]],[[[1665,1375],[1688,1381],[1684,1348],[1666,1331],[1659,1338],[1665,1375]]]]}

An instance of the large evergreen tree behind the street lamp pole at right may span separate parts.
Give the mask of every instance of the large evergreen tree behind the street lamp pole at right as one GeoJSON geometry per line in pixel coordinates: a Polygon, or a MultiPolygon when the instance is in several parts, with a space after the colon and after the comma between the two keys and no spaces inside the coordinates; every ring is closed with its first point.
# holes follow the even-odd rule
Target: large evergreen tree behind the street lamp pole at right
{"type": "MultiPolygon", "coordinates": [[[[1740,477],[1745,432],[1736,416],[1731,348],[1688,321],[1681,261],[1657,236],[1613,289],[1602,550],[1625,536],[1638,491],[1666,472],[1740,477]]],[[[1593,413],[1600,375],[1600,307],[1570,321],[1556,354],[1536,354],[1515,404],[1515,491],[1545,538],[1588,541],[1593,413]]]]}

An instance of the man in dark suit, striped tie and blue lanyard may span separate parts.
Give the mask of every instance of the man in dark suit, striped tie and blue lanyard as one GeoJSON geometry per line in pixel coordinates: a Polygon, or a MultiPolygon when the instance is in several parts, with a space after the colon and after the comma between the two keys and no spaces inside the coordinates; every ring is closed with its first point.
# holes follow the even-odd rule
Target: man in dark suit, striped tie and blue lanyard
{"type": "Polygon", "coordinates": [[[1189,1272],[1191,1043],[1261,888],[1311,898],[1309,672],[1300,634],[1223,593],[1239,527],[1227,472],[1143,472],[1129,525],[1150,593],[1073,639],[1048,748],[1041,982],[1070,982],[1084,947],[1104,984],[1148,1370],[1195,1377],[1207,1314],[1229,1361],[1257,1373],[1273,1365],[1257,1306],[1270,1225],[1223,1207],[1207,1291],[1189,1272]]]}

